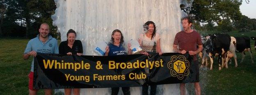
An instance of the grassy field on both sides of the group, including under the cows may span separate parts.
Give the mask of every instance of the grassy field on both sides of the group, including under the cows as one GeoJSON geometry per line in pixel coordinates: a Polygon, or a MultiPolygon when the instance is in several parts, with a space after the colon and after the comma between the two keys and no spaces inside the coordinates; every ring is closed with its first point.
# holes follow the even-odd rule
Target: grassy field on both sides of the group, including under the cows
{"type": "MultiPolygon", "coordinates": [[[[199,31],[200,32],[200,31],[199,31]]],[[[202,35],[215,32],[200,32],[202,35]]],[[[231,36],[256,36],[256,32],[229,32],[231,36]]],[[[28,77],[32,57],[23,60],[22,55],[28,39],[0,38],[0,95],[27,95],[28,77]]],[[[254,41],[251,40],[251,47],[254,41]]],[[[203,82],[203,95],[255,95],[256,94],[256,52],[253,49],[254,63],[251,63],[249,53],[245,61],[229,64],[229,69],[218,70],[214,63],[213,70],[207,70],[206,82],[203,82]]],[[[238,62],[241,54],[237,53],[238,62]]],[[[216,62],[216,61],[215,61],[216,62]]],[[[234,61],[233,61],[234,62],[234,61]]],[[[202,83],[201,83],[202,84],[202,83]]],[[[40,90],[39,95],[43,94],[40,90]]]]}

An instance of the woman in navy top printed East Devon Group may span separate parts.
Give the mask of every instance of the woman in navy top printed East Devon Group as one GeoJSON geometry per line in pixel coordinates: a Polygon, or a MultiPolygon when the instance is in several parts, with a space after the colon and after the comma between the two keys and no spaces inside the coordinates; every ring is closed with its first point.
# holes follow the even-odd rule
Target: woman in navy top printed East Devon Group
{"type": "MultiPolygon", "coordinates": [[[[123,46],[123,34],[119,29],[115,29],[112,32],[111,42],[109,46],[106,47],[105,56],[114,55],[127,55],[131,54],[130,45],[128,47],[128,53],[123,46]]],[[[123,95],[130,95],[130,87],[122,87],[123,95]]],[[[111,95],[117,95],[119,92],[119,87],[111,88],[111,95]]]]}

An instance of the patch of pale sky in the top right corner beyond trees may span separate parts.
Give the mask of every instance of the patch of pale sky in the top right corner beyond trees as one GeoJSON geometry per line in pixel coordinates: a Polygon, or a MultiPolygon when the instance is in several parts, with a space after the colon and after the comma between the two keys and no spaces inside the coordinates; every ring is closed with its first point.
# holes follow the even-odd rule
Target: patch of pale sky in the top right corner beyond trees
{"type": "Polygon", "coordinates": [[[249,0],[249,4],[247,4],[245,1],[248,2],[248,0],[242,0],[242,5],[240,6],[242,15],[249,18],[256,18],[256,0],[249,0]]]}

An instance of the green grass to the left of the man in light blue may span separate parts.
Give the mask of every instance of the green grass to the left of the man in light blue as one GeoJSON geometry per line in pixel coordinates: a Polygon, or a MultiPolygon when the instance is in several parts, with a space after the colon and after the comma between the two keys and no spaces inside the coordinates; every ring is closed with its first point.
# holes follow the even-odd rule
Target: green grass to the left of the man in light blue
{"type": "MultiPolygon", "coordinates": [[[[0,38],[0,93],[27,95],[32,57],[23,60],[27,39],[0,38]]],[[[43,91],[39,91],[42,95],[43,91]]]]}

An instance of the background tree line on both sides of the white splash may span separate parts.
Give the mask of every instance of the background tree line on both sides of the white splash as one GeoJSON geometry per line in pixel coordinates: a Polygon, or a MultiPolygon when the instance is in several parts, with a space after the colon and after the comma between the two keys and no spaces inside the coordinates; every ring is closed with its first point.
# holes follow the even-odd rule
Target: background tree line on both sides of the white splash
{"type": "MultiPolygon", "coordinates": [[[[247,0],[249,1],[249,0],[247,0]]],[[[198,30],[248,32],[256,29],[256,19],[240,12],[245,0],[194,0],[188,14],[195,20],[198,30]],[[203,26],[200,23],[207,23],[203,26]]],[[[0,36],[32,38],[38,34],[41,23],[50,25],[51,34],[58,36],[57,27],[52,25],[55,13],[54,0],[0,0],[0,36]]]]}

